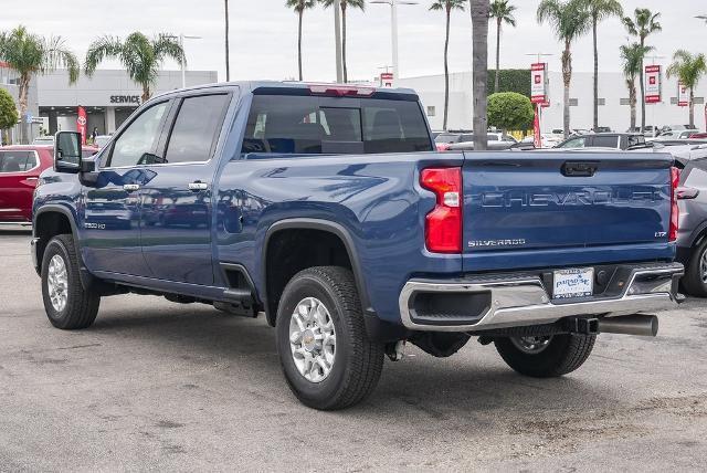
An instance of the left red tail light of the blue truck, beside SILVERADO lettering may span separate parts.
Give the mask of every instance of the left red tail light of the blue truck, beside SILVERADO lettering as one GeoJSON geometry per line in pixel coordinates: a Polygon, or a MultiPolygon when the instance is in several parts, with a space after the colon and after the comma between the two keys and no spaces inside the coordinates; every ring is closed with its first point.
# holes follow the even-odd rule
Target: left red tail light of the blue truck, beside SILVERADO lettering
{"type": "Polygon", "coordinates": [[[428,168],[420,185],[436,196],[425,218],[425,246],[434,253],[462,252],[462,168],[428,168]]]}

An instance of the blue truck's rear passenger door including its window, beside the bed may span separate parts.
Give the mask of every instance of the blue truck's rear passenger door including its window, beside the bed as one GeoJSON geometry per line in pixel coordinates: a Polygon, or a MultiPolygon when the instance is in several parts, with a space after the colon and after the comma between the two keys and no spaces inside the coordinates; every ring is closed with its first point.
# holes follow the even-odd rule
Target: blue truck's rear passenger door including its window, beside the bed
{"type": "Polygon", "coordinates": [[[213,284],[211,251],[217,144],[232,93],[200,91],[176,99],[143,186],[143,254],[155,277],[213,284]]]}

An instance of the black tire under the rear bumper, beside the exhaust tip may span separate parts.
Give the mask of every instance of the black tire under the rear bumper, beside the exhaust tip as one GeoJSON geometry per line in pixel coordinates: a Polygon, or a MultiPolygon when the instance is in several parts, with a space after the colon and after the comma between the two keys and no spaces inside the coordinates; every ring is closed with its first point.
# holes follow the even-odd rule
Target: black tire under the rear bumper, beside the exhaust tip
{"type": "Polygon", "coordinates": [[[555,335],[545,349],[526,353],[509,337],[496,338],[500,357],[517,372],[534,378],[555,378],[582,366],[594,347],[595,335],[555,335]]]}

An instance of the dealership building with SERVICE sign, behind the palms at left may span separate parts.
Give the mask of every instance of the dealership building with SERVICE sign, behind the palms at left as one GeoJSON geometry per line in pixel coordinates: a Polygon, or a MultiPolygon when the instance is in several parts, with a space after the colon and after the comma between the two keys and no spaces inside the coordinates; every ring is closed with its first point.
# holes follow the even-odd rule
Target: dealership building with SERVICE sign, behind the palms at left
{"type": "MultiPolygon", "coordinates": [[[[187,71],[187,86],[218,82],[215,71],[187,71]]],[[[0,87],[10,92],[19,106],[17,74],[0,63],[0,87]]],[[[173,91],[182,86],[181,71],[160,71],[152,94],[173,91]]],[[[78,107],[86,111],[86,129],[98,134],[114,133],[140,105],[143,88],[125,71],[98,70],[91,77],[81,75],[68,84],[68,72],[57,70],[35,76],[30,85],[28,112],[32,119],[32,135],[57,130],[75,130],[78,107]]],[[[19,132],[15,130],[15,137],[19,132]]]]}

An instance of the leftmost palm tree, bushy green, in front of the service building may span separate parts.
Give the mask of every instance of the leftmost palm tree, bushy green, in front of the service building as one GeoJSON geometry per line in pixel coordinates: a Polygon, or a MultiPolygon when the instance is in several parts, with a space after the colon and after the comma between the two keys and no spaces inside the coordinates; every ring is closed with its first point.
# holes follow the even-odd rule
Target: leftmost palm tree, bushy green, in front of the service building
{"type": "Polygon", "coordinates": [[[42,38],[29,33],[27,28],[18,27],[12,31],[0,32],[0,60],[19,74],[19,98],[22,126],[20,143],[29,141],[27,123],[28,93],[30,82],[35,74],[45,74],[57,67],[68,70],[68,83],[78,80],[81,66],[78,60],[64,46],[61,36],[42,38]]]}

